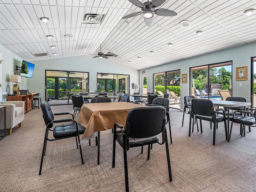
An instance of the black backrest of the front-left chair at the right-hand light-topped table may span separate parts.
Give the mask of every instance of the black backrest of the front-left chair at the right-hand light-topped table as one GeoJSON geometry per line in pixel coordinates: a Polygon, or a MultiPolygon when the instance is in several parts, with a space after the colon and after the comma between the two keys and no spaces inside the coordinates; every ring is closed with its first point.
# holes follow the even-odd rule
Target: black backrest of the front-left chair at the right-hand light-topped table
{"type": "Polygon", "coordinates": [[[208,99],[192,99],[192,112],[203,116],[214,116],[214,106],[208,99]]]}

